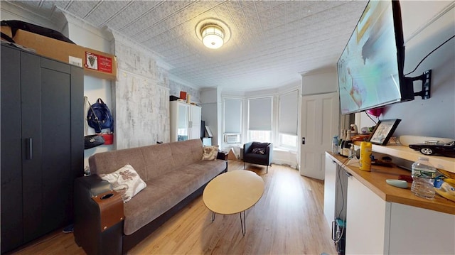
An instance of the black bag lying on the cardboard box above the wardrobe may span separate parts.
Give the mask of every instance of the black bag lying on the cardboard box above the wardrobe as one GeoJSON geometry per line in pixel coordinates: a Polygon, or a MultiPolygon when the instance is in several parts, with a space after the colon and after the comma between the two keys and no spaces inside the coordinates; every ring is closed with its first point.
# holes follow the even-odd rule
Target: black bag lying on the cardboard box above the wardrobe
{"type": "Polygon", "coordinates": [[[73,43],[73,40],[70,40],[68,37],[64,36],[63,33],[60,33],[58,31],[55,31],[50,28],[45,28],[43,26],[38,26],[32,23],[28,23],[25,21],[1,21],[1,26],[9,26],[11,28],[11,33],[14,36],[16,35],[16,31],[18,29],[21,29],[23,31],[28,31],[31,33],[37,33],[38,35],[41,36],[46,36],[49,38],[54,38],[57,40],[63,40],[64,42],[67,43],[73,43]]]}

